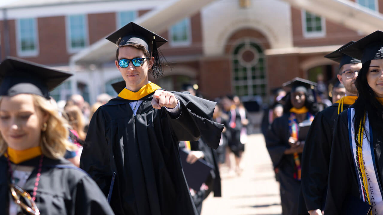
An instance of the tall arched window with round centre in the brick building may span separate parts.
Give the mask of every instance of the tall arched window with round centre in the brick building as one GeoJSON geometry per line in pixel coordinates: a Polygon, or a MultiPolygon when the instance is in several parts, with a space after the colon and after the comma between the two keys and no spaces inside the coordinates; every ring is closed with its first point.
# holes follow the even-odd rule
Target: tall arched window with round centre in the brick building
{"type": "Polygon", "coordinates": [[[238,96],[265,96],[265,55],[263,49],[252,39],[244,39],[234,48],[233,87],[238,96]]]}

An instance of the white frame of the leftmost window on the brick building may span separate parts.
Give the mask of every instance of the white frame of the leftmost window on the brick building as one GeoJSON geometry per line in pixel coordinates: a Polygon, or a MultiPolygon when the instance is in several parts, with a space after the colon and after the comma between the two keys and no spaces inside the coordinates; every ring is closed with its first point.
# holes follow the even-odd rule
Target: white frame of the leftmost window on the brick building
{"type": "MultiPolygon", "coordinates": [[[[15,20],[15,24],[16,24],[16,50],[17,50],[17,55],[19,57],[36,57],[39,55],[39,34],[38,34],[38,22],[37,22],[37,18],[25,18],[25,19],[32,19],[34,20],[34,42],[35,42],[35,46],[36,46],[36,49],[33,50],[33,51],[23,51],[21,50],[21,29],[20,29],[20,20],[22,19],[18,19],[18,20],[15,20]]],[[[24,18],[23,18],[24,20],[24,18]]]]}

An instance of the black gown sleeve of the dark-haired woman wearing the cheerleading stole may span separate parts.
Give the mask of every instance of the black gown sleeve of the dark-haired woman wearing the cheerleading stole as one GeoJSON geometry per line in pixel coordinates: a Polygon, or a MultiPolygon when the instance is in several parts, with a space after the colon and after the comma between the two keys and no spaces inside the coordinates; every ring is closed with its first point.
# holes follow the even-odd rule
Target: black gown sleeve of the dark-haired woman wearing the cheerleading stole
{"type": "Polygon", "coordinates": [[[352,172],[350,162],[349,129],[347,124],[347,111],[342,112],[334,126],[332,139],[328,188],[324,214],[342,214],[342,205],[350,193],[352,172]]]}

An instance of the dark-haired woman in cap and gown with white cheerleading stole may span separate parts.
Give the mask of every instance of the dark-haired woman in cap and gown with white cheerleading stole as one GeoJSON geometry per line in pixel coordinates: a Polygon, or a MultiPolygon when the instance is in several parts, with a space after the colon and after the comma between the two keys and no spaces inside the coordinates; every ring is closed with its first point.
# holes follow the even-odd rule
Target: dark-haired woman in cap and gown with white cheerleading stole
{"type": "Polygon", "coordinates": [[[358,201],[375,206],[372,208],[372,214],[380,214],[383,211],[381,196],[376,196],[379,192],[381,193],[381,179],[383,177],[381,169],[383,166],[381,153],[383,148],[382,49],[383,32],[376,31],[341,50],[344,54],[360,59],[363,67],[355,81],[358,99],[347,111],[339,114],[334,126],[326,206],[324,209],[326,215],[346,214],[347,207],[353,211],[360,209],[363,204],[358,201]],[[355,111],[355,115],[353,111],[355,111]],[[365,113],[367,113],[367,117],[366,120],[363,120],[365,113]],[[360,126],[360,124],[363,124],[363,126],[360,126]],[[352,129],[352,125],[354,125],[354,129],[352,129]],[[362,128],[364,130],[363,136],[358,135],[359,130],[362,130],[362,128]],[[355,137],[353,138],[352,135],[355,137]],[[359,136],[363,137],[362,140],[359,139],[359,136]],[[351,147],[354,143],[355,147],[351,147]],[[355,159],[354,156],[358,153],[354,151],[361,150],[362,143],[363,153],[361,152],[360,156],[362,160],[355,159]],[[372,153],[367,153],[365,147],[372,149],[372,153]],[[370,159],[367,159],[366,156],[368,155],[371,156],[370,159]],[[376,168],[375,171],[368,170],[367,165],[371,163],[376,168]],[[375,178],[372,177],[372,172],[377,174],[375,178]],[[367,183],[361,181],[360,176],[367,178],[367,183]],[[375,186],[371,183],[374,179],[377,180],[375,186]],[[361,189],[367,192],[363,191],[362,194],[361,189]],[[365,198],[367,195],[369,198],[365,198]],[[350,199],[353,198],[358,199],[358,201],[356,201],[356,204],[349,205],[350,199]],[[346,205],[347,207],[345,207],[346,205]]]}

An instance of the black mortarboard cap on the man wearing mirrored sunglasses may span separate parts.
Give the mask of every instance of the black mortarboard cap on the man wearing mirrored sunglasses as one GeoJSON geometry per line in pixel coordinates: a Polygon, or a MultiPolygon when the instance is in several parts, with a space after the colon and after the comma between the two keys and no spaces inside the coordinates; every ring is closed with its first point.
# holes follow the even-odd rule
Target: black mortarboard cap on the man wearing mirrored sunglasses
{"type": "Polygon", "coordinates": [[[149,51],[149,53],[152,53],[153,47],[158,48],[167,42],[163,37],[160,37],[154,32],[149,31],[134,22],[126,24],[110,34],[106,39],[113,42],[118,47],[129,44],[141,44],[149,51]]]}

